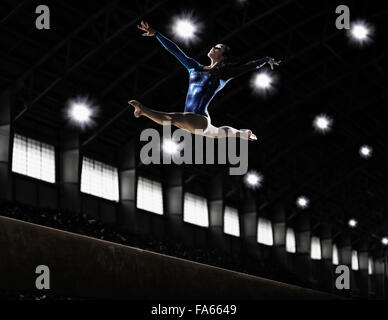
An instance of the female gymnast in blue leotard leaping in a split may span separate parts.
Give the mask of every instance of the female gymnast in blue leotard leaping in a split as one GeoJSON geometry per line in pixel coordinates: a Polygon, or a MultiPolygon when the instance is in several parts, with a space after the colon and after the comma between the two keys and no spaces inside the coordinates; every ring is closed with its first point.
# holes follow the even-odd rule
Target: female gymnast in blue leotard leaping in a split
{"type": "Polygon", "coordinates": [[[207,54],[210,58],[210,65],[203,66],[196,60],[188,57],[174,42],[151,28],[147,22],[141,21],[137,27],[145,32],[143,36],[155,36],[182,63],[189,71],[190,82],[184,112],[155,111],[145,107],[139,101],[131,100],[128,103],[135,107],[135,117],[145,116],[160,125],[171,123],[193,134],[201,134],[212,138],[232,136],[251,141],[257,140],[256,135],[248,129],[237,130],[229,126],[213,126],[207,108],[217,92],[233,78],[248,71],[259,69],[266,63],[273,70],[273,66],[278,66],[281,61],[265,57],[236,66],[229,63],[230,48],[225,44],[217,44],[207,54]]]}

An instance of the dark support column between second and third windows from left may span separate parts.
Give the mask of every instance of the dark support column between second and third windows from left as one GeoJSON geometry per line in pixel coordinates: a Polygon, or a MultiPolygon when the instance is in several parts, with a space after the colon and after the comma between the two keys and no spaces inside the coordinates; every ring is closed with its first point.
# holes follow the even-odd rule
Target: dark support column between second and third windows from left
{"type": "Polygon", "coordinates": [[[136,141],[129,140],[119,154],[120,204],[118,225],[137,234],[136,225],[136,141]]]}

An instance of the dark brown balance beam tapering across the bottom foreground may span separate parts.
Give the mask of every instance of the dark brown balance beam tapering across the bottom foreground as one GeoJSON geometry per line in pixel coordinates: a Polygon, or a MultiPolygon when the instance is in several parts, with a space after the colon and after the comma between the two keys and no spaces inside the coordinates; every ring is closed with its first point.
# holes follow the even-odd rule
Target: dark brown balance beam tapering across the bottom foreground
{"type": "Polygon", "coordinates": [[[130,300],[335,299],[335,296],[0,216],[0,289],[130,300]],[[45,291],[45,290],[42,290],[45,291]],[[41,292],[42,292],[41,291],[41,292]]]}

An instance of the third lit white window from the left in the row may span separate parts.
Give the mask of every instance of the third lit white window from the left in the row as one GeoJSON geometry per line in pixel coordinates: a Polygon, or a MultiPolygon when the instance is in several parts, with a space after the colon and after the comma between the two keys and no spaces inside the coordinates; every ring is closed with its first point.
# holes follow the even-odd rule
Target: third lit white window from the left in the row
{"type": "Polygon", "coordinates": [[[139,177],[137,180],[137,201],[139,209],[163,214],[162,184],[157,181],[139,177]]]}

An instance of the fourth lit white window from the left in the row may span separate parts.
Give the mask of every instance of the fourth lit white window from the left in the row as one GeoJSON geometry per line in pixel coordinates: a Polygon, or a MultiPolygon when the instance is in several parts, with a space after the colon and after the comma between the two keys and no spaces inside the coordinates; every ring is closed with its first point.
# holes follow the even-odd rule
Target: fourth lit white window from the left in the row
{"type": "Polygon", "coordinates": [[[209,212],[206,199],[192,193],[185,193],[183,221],[208,227],[209,212]]]}

